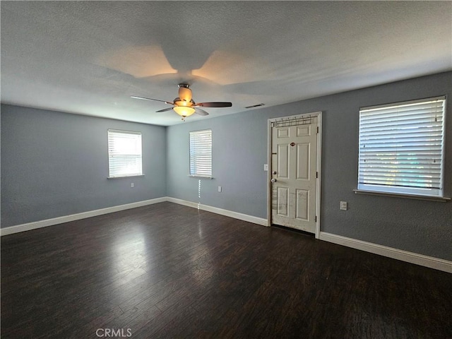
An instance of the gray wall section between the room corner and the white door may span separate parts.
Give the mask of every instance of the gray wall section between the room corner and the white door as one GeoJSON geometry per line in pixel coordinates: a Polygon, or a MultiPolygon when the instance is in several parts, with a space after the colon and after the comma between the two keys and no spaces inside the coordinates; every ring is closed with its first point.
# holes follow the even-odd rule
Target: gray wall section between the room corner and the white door
{"type": "Polygon", "coordinates": [[[232,114],[168,127],[167,195],[267,218],[263,171],[267,162],[267,120],[261,119],[261,114],[256,110],[244,116],[232,114]],[[188,177],[189,131],[201,129],[212,129],[214,179],[188,177]],[[221,193],[218,186],[222,186],[221,193]]]}

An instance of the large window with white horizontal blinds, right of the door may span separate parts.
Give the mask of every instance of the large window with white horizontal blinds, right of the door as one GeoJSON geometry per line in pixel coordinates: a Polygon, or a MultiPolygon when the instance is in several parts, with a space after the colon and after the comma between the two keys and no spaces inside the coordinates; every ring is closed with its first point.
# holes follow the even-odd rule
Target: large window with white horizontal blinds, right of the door
{"type": "Polygon", "coordinates": [[[446,97],[359,110],[358,191],[443,196],[446,97]]]}

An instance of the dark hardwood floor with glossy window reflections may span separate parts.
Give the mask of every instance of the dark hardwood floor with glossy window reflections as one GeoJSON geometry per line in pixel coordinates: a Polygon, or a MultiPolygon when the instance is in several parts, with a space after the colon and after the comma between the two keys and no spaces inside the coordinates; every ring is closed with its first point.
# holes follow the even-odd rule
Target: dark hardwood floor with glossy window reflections
{"type": "Polygon", "coordinates": [[[1,237],[1,338],[452,338],[452,274],[172,203],[1,237]]]}

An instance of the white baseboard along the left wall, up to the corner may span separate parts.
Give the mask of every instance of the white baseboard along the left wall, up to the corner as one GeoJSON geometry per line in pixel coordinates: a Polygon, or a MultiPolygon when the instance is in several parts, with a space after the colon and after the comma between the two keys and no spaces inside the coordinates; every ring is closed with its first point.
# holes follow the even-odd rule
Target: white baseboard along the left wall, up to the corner
{"type": "Polygon", "coordinates": [[[152,205],[153,203],[162,203],[164,201],[167,201],[167,197],[165,197],[165,196],[162,198],[155,198],[155,199],[150,199],[150,200],[145,200],[145,201],[137,201],[136,203],[126,203],[124,205],[119,205],[119,206],[100,208],[99,210],[88,210],[87,212],[76,213],[76,214],[71,214],[71,215],[63,215],[61,217],[52,218],[52,219],[27,222],[26,224],[14,225],[14,226],[1,228],[0,236],[18,233],[18,232],[35,230],[35,229],[41,228],[41,227],[58,225],[58,224],[62,224],[63,222],[70,222],[70,221],[74,221],[74,220],[91,218],[91,217],[95,217],[97,215],[119,212],[120,210],[129,210],[131,208],[152,205]]]}

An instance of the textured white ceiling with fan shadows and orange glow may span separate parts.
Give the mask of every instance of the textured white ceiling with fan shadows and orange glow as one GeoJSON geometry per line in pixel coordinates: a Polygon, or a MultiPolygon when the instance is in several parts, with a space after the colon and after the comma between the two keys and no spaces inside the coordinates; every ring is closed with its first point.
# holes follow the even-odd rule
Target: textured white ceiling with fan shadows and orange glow
{"type": "Polygon", "coordinates": [[[148,124],[452,69],[451,1],[1,1],[1,102],[148,124]]]}

